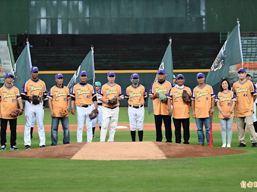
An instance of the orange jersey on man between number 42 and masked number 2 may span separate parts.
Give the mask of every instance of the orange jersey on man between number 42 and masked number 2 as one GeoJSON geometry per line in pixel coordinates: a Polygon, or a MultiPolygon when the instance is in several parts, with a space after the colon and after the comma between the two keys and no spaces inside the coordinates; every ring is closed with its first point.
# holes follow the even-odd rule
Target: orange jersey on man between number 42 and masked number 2
{"type": "MultiPolygon", "coordinates": [[[[105,99],[111,99],[114,96],[117,96],[117,97],[123,96],[123,92],[120,85],[116,83],[114,84],[105,83],[104,85],[102,85],[100,89],[100,95],[105,100],[105,99]]],[[[119,102],[117,102],[117,104],[115,105],[109,105],[106,103],[102,103],[102,105],[106,107],[114,107],[114,106],[118,106],[119,102]]]]}

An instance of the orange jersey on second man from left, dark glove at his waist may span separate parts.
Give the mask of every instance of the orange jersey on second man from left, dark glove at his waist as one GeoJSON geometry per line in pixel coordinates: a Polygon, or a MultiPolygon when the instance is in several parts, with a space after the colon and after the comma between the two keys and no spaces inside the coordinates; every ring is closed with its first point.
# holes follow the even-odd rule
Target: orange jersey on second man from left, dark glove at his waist
{"type": "Polygon", "coordinates": [[[27,80],[27,82],[24,83],[22,87],[22,94],[27,96],[47,95],[46,83],[41,79],[38,79],[36,81],[29,79],[27,80]]]}

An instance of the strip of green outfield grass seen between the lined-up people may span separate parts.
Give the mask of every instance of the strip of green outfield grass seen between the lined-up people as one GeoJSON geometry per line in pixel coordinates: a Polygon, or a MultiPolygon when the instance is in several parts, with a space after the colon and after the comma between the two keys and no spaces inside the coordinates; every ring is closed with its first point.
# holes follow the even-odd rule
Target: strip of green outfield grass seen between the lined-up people
{"type": "MultiPolygon", "coordinates": [[[[192,115],[192,111],[191,111],[191,115],[192,115]]],[[[77,123],[77,116],[76,115],[72,115],[70,113],[69,121],[70,121],[71,124],[76,124],[77,123]]],[[[118,121],[120,123],[128,123],[129,122],[129,116],[127,114],[127,107],[120,107],[119,108],[119,118],[118,118],[118,121]]],[[[144,122],[145,123],[154,123],[155,122],[153,112],[149,115],[147,107],[145,108],[145,120],[144,120],[144,122]]],[[[190,118],[190,122],[195,122],[195,119],[193,119],[192,116],[190,118]]],[[[215,112],[214,112],[214,115],[213,115],[213,122],[219,122],[218,108],[217,107],[215,107],[215,112]]],[[[235,119],[234,119],[234,122],[236,122],[235,119]]],[[[24,114],[18,118],[18,122],[17,123],[18,124],[24,124],[25,123],[25,115],[24,114]]],[[[51,116],[50,116],[49,108],[45,109],[44,124],[51,124],[51,116]]]]}

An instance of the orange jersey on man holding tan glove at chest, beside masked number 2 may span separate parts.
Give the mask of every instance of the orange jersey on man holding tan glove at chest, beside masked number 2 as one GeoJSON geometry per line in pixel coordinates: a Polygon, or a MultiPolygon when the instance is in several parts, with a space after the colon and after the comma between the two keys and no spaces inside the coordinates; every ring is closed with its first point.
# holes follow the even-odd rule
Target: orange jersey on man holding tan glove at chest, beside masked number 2
{"type": "MultiPolygon", "coordinates": [[[[155,81],[152,83],[149,95],[153,95],[155,92],[164,92],[166,95],[169,93],[170,89],[172,88],[172,84],[170,81],[165,80],[162,84],[160,84],[158,81],[155,81]]],[[[154,107],[154,114],[155,115],[168,115],[169,114],[169,108],[167,102],[161,102],[159,98],[153,99],[153,107],[154,107]]]]}

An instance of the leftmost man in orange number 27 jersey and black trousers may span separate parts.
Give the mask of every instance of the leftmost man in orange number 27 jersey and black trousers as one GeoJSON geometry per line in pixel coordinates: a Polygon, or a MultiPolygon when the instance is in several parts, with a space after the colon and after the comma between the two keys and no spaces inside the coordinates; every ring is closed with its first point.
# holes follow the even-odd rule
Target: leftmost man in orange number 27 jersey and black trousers
{"type": "Polygon", "coordinates": [[[5,84],[0,88],[1,150],[6,150],[6,130],[8,121],[11,130],[10,149],[19,150],[19,148],[16,147],[17,117],[12,117],[10,113],[17,108],[17,100],[21,110],[23,110],[23,103],[19,89],[13,86],[13,79],[13,74],[7,73],[5,75],[5,84]]]}

